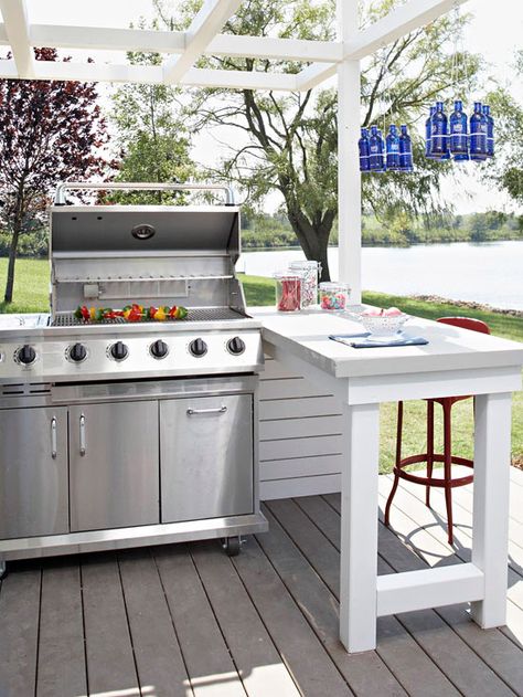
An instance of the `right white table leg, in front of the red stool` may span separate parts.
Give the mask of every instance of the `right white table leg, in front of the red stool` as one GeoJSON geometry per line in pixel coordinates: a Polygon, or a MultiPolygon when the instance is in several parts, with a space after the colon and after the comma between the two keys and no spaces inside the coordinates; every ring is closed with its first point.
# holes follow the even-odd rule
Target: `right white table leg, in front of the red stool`
{"type": "Polygon", "coordinates": [[[472,616],[483,629],[506,620],[511,398],[476,398],[472,563],[483,571],[484,599],[472,616]]]}

